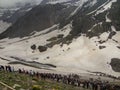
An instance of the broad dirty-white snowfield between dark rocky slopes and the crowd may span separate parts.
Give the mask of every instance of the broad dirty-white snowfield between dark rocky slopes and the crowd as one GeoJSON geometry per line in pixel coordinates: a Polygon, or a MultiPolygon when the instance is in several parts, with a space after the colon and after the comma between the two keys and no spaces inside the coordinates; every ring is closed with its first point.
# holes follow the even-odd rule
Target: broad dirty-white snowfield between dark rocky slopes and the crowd
{"type": "MultiPolygon", "coordinates": [[[[93,37],[89,39],[85,35],[82,35],[74,39],[69,45],[64,44],[61,47],[60,44],[56,44],[52,48],[48,48],[45,52],[40,53],[38,50],[35,50],[34,53],[32,53],[30,49],[31,45],[45,45],[50,42],[47,41],[47,39],[59,34],[64,34],[64,37],[66,37],[71,31],[71,25],[67,25],[60,31],[57,29],[50,31],[56,26],[57,25],[54,25],[44,31],[36,32],[35,35],[38,36],[34,37],[35,35],[33,35],[23,41],[20,41],[20,38],[0,40],[0,47],[3,47],[3,49],[0,49],[0,57],[15,61],[15,59],[10,58],[10,56],[14,56],[25,59],[26,61],[53,64],[57,66],[54,70],[61,72],[88,73],[87,71],[94,71],[115,76],[120,75],[120,73],[114,72],[108,64],[111,62],[111,58],[120,58],[120,49],[116,47],[120,43],[115,43],[112,40],[108,40],[103,44],[98,43],[99,40],[107,39],[109,35],[107,32],[103,33],[100,38],[93,37]],[[46,33],[48,31],[50,32],[46,33]],[[106,48],[99,49],[99,46],[106,46],[106,48]],[[35,58],[38,59],[36,60],[35,58]]],[[[113,38],[120,42],[120,32],[117,32],[113,38]]],[[[5,65],[7,63],[8,61],[0,59],[0,64],[5,65]]],[[[28,66],[19,64],[15,66],[17,68],[31,69],[31,67],[28,68],[28,66]]]]}

